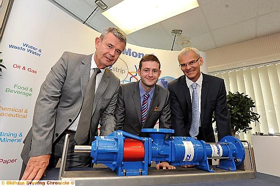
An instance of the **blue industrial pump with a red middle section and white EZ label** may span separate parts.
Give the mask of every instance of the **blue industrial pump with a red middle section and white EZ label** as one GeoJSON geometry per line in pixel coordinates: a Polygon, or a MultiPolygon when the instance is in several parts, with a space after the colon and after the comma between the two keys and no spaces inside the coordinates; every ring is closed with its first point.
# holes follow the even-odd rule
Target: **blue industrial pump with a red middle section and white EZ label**
{"type": "MultiPolygon", "coordinates": [[[[174,137],[172,129],[142,129],[150,138],[138,137],[124,131],[108,136],[97,136],[91,146],[93,163],[105,164],[119,176],[148,175],[152,161],[170,165],[194,165],[198,169],[214,172],[208,159],[219,159],[220,169],[235,171],[243,163],[245,149],[240,140],[225,136],[217,143],[206,143],[192,137],[174,137]]],[[[78,150],[79,146],[75,147],[78,150]]]]}

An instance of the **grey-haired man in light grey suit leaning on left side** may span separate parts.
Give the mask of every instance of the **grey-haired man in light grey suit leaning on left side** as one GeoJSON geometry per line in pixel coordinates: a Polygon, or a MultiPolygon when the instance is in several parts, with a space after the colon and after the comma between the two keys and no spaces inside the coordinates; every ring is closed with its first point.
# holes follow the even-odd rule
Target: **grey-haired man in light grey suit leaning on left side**
{"type": "Polygon", "coordinates": [[[92,92],[95,94],[92,116],[89,117],[88,124],[89,135],[86,143],[83,143],[86,145],[97,135],[99,121],[100,135],[105,136],[115,131],[114,111],[120,80],[107,67],[115,64],[125,46],[126,37],[120,29],[106,28],[95,39],[94,54],[64,52],[51,68],[36,101],[32,128],[24,140],[21,152],[22,179],[39,180],[48,166],[55,167],[62,155],[66,133],[70,133],[66,166],[89,166],[89,154],[73,151],[77,144],[74,137],[78,124],[80,125],[82,105],[86,103],[83,100],[87,85],[90,76],[96,73],[95,92],[92,92]]]}

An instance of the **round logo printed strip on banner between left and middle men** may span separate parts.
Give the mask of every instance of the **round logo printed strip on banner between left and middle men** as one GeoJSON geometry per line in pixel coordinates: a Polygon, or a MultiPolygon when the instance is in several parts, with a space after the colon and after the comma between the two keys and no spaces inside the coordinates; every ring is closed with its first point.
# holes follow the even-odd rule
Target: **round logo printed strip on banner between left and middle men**
{"type": "Polygon", "coordinates": [[[125,80],[128,76],[128,67],[125,61],[119,57],[119,59],[116,61],[116,63],[113,66],[108,67],[111,71],[114,72],[114,74],[120,78],[120,81],[122,82],[125,80]]]}

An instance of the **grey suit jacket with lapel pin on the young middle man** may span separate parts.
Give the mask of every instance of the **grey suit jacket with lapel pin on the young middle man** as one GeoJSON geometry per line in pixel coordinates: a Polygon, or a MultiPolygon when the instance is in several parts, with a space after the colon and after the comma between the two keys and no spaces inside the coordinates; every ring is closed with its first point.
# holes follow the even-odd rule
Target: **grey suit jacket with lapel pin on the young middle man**
{"type": "Polygon", "coordinates": [[[140,134],[143,128],[154,128],[158,119],[159,128],[170,129],[169,91],[155,85],[152,102],[142,126],[139,81],[121,85],[115,116],[117,119],[116,130],[123,130],[137,136],[143,136],[140,134]]]}

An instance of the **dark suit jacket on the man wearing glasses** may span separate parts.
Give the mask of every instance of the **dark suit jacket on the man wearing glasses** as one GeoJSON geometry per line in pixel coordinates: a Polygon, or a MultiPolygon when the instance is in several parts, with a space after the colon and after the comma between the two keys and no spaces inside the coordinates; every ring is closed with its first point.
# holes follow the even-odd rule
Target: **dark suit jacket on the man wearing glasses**
{"type": "MultiPolygon", "coordinates": [[[[218,140],[231,135],[227,92],[223,79],[203,74],[201,89],[201,128],[206,142],[215,142],[212,115],[215,111],[218,140]]],[[[168,84],[170,91],[171,126],[175,136],[189,136],[191,97],[185,75],[168,84]]]]}

